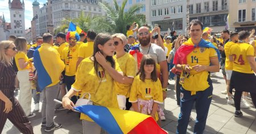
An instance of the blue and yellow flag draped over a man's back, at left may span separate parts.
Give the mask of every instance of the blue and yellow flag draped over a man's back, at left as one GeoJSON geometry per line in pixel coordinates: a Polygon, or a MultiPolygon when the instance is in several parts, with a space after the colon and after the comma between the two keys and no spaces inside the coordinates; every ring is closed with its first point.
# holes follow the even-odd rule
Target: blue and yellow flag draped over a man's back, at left
{"type": "Polygon", "coordinates": [[[56,85],[60,80],[60,74],[65,64],[52,45],[43,43],[34,52],[34,65],[38,72],[38,86],[42,91],[47,86],[56,85]]]}

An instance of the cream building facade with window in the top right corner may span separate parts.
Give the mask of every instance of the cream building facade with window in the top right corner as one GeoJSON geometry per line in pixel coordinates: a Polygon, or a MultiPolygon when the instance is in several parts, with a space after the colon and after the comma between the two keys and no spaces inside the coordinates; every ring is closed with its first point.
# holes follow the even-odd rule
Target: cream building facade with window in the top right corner
{"type": "Polygon", "coordinates": [[[229,1],[229,28],[232,31],[256,30],[256,1],[236,0],[229,1]]]}

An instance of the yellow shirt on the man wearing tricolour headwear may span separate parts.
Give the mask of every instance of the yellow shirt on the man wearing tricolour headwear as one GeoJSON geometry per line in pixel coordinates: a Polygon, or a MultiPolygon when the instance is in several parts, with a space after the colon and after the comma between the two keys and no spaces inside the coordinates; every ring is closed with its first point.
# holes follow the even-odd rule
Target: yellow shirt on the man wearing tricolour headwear
{"type": "Polygon", "coordinates": [[[66,76],[75,76],[76,74],[76,62],[78,60],[77,53],[78,49],[76,45],[72,48],[69,48],[69,46],[65,47],[61,53],[61,60],[65,61],[64,63],[66,76]]]}

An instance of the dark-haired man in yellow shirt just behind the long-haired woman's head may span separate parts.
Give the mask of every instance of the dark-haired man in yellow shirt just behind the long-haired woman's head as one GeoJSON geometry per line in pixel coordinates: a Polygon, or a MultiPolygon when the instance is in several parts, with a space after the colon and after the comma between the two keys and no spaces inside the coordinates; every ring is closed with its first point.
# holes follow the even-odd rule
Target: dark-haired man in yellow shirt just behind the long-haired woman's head
{"type": "Polygon", "coordinates": [[[94,39],[95,39],[96,35],[97,35],[97,33],[93,30],[88,30],[87,31],[87,36],[86,36],[87,43],[82,44],[79,48],[79,52],[78,52],[78,57],[79,58],[77,60],[76,67],[79,66],[80,62],[82,60],[84,60],[84,58],[92,56],[92,54],[93,54],[93,44],[94,44],[94,39]]]}

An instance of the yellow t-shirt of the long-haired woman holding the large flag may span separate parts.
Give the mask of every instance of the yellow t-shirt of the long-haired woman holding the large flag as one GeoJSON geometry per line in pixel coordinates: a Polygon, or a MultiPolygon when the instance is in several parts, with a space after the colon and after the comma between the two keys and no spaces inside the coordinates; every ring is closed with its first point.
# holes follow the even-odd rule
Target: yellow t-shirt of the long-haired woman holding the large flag
{"type": "MultiPolygon", "coordinates": [[[[84,93],[90,93],[94,105],[118,108],[117,95],[114,94],[113,78],[98,66],[98,72],[95,72],[93,61],[87,57],[79,64],[77,68],[76,81],[72,89],[81,91],[80,97],[84,93]],[[99,74],[100,77],[97,76],[99,74]]],[[[86,96],[88,99],[88,97],[86,96]]],[[[87,115],[81,114],[84,120],[90,119],[87,115]]]]}

